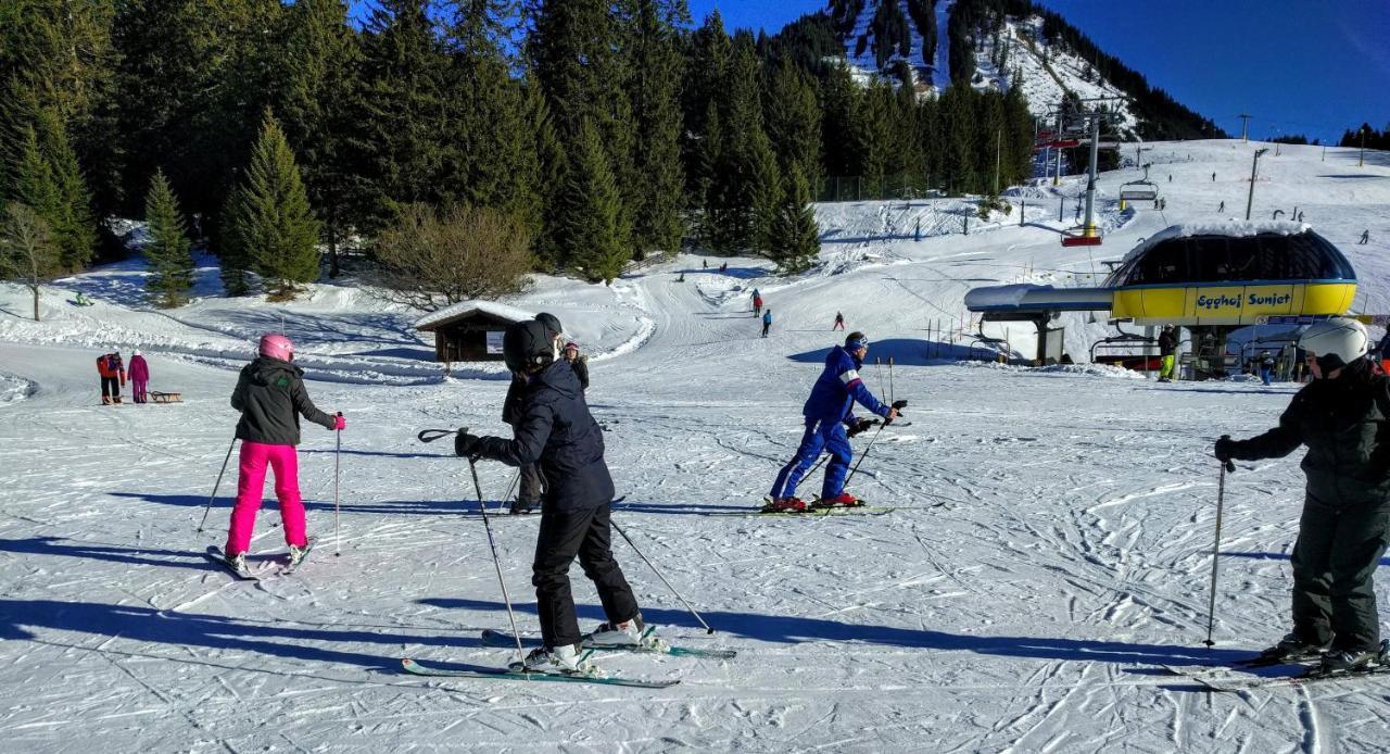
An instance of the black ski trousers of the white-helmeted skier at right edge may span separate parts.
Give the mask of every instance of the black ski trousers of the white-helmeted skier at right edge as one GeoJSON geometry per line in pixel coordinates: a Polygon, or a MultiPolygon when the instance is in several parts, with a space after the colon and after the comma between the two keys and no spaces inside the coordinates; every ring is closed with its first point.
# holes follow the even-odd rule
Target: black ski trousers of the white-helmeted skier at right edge
{"type": "Polygon", "coordinates": [[[1334,650],[1373,650],[1380,619],[1372,575],[1384,555],[1390,501],[1336,508],[1304,502],[1294,544],[1294,633],[1334,650]]]}

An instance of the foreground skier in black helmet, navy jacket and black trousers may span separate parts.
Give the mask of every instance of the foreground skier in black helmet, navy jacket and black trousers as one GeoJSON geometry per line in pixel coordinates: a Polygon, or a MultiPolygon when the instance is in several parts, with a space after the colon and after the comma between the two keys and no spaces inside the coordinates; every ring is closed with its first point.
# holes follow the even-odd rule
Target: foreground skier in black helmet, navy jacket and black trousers
{"type": "Polygon", "coordinates": [[[585,645],[652,641],[610,548],[613,479],[603,462],[603,433],[589,415],[574,370],[556,358],[555,338],[545,324],[512,324],[502,351],[507,369],[525,377],[520,417],[513,424],[516,437],[475,437],[459,430],[455,452],[509,466],[541,465],[549,487],[541,504],[531,583],[545,645],[528,654],[524,665],[539,672],[596,673],[581,657],[581,640],[585,645]],[[607,616],[588,637],[580,634],[570,593],[575,555],[607,616]]]}

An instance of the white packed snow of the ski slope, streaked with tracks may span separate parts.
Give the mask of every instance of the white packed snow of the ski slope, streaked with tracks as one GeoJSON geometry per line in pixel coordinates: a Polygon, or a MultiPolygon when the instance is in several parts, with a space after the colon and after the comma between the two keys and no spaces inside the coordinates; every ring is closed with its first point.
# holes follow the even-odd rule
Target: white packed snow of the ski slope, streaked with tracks
{"type": "MultiPolygon", "coordinates": [[[[1212,696],[1158,671],[1289,629],[1301,454],[1226,479],[1216,645],[1201,644],[1211,444],[1275,426],[1294,385],[955,362],[998,348],[969,337],[966,291],[1094,287],[1141,238],[1243,214],[1255,146],[1154,145],[1163,213],[1120,213],[1115,189],[1137,171],[1102,174],[1099,248],[1058,243],[1081,188],[1069,179],[1012,189],[1013,213],[987,223],[959,199],[819,206],[820,263],[795,277],[682,256],[612,287],[542,275],[507,299],[555,313],[595,358],[588,402],[626,495],[613,520],[717,633],[616,541],[644,616],[676,644],[738,651],[599,657],[609,673],[680,680],[659,691],[400,672],[403,657],[510,658],[478,640],[506,629],[507,611],[468,466],[448,441],[416,440],[428,427],[506,434],[507,385],[496,364],[445,377],[417,312],[352,281],[291,303],[225,298],[211,260],[196,300],[174,310],[145,305],[139,260],[46,287],[39,323],[26,289],[3,285],[0,750],[1382,751],[1390,680],[1212,696]],[[766,339],[753,288],[773,310],[766,339]],[[96,305],[72,306],[76,291],[96,305]],[[835,312],[872,339],[870,388],[909,401],[910,424],[855,440],[865,452],[877,437],[851,490],[895,509],[751,515],[844,337],[835,312]],[[232,440],[236,370],[267,330],[296,339],[310,395],[348,428],[338,454],[332,433],[304,426],[318,545],[297,573],[253,584],[202,555],[225,536],[235,462],[197,526],[232,440]],[[95,358],[111,345],[140,348],[150,387],[183,403],[100,406],[95,358]]],[[[1358,168],[1354,150],[1323,161],[1284,147],[1261,168],[1255,216],[1305,211],[1357,267],[1357,309],[1390,309],[1390,156],[1358,168]]],[[[1104,313],[1054,326],[1077,362],[1113,332],[1104,313]]],[[[1020,355],[1030,330],[986,334],[1020,355]]],[[[499,505],[513,472],[480,463],[478,476],[499,505]]],[[[277,522],[268,501],[257,558],[284,552],[277,522]]],[[[539,522],[491,523],[517,622],[535,636],[539,522]]],[[[592,627],[602,611],[573,576],[592,627]]]]}

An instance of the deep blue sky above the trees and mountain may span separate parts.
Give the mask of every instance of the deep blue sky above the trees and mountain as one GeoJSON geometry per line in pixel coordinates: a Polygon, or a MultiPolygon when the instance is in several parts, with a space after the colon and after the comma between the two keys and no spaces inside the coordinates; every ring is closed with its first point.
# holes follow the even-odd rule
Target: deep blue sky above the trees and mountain
{"type": "MultiPolygon", "coordinates": [[[[1037,1],[1037,0],[1036,0],[1037,1]]],[[[1390,122],[1390,0],[1041,0],[1177,102],[1240,134],[1307,134],[1390,122]]],[[[728,28],[780,29],[816,0],[689,0],[728,28]]]]}

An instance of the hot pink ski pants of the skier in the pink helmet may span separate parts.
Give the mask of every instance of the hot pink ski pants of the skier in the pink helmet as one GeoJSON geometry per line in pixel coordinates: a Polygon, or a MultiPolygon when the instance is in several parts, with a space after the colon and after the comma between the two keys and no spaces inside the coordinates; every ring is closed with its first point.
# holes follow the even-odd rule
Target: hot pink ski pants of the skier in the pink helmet
{"type": "Polygon", "coordinates": [[[267,445],[242,441],[240,477],[236,481],[236,505],[227,530],[227,554],[239,555],[252,547],[256,512],[265,487],[265,466],[275,472],[275,497],[279,519],[285,523],[285,544],[304,547],[304,504],[299,497],[299,458],[293,445],[267,445]]]}

